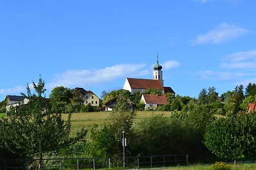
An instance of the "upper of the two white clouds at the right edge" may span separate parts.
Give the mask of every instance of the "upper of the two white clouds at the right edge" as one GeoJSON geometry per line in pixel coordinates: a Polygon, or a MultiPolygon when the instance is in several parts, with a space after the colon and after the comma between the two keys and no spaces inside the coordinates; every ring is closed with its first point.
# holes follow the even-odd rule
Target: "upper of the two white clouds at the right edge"
{"type": "Polygon", "coordinates": [[[226,55],[226,62],[221,67],[227,69],[253,69],[256,66],[256,50],[237,52],[226,55]]]}

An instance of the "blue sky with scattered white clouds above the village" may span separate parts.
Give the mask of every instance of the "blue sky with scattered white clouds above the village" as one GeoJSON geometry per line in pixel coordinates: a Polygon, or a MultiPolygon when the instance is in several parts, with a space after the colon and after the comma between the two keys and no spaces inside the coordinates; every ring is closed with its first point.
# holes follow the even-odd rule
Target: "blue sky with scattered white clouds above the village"
{"type": "Polygon", "coordinates": [[[256,1],[0,1],[0,101],[41,74],[52,88],[122,89],[152,78],[180,96],[256,81],[256,1]]]}

